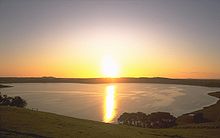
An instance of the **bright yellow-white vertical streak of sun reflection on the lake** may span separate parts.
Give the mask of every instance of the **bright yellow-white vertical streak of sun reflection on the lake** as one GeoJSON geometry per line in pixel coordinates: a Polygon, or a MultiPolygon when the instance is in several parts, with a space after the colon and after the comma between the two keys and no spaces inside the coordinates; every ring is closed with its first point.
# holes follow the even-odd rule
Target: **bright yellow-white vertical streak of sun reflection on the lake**
{"type": "Polygon", "coordinates": [[[115,86],[110,85],[106,87],[105,91],[105,106],[104,106],[104,119],[105,123],[110,123],[115,117],[115,86]]]}

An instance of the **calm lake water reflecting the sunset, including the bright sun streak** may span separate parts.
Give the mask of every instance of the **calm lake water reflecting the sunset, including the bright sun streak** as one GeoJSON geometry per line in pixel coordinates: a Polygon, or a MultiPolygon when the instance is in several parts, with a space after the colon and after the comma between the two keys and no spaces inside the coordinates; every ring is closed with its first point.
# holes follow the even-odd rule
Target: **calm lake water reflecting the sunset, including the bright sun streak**
{"type": "Polygon", "coordinates": [[[175,116],[201,109],[218,99],[207,93],[220,88],[174,84],[16,83],[0,91],[21,96],[28,108],[103,122],[123,112],[167,111],[175,116]]]}

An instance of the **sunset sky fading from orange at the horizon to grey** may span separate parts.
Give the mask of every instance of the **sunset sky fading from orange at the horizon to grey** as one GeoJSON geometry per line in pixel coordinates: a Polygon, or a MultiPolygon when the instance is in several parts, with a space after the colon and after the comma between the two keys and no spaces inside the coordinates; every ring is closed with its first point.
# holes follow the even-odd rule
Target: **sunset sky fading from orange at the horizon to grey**
{"type": "Polygon", "coordinates": [[[0,0],[0,76],[220,78],[219,13],[219,0],[0,0]]]}

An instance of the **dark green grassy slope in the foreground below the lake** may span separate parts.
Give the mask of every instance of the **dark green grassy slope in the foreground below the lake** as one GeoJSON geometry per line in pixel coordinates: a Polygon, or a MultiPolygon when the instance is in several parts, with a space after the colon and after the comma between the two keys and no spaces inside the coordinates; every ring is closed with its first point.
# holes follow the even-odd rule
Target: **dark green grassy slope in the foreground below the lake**
{"type": "MultiPolygon", "coordinates": [[[[219,123],[217,123],[219,126],[219,123]]],[[[219,138],[216,128],[148,129],[0,106],[1,137],[219,138]]]]}

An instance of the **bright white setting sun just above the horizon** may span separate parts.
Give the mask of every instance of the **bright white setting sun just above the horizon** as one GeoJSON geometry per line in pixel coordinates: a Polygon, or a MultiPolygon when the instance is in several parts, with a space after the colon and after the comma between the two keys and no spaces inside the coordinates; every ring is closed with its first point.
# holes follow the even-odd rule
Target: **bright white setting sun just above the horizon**
{"type": "Polygon", "coordinates": [[[111,57],[105,57],[102,61],[102,74],[104,77],[118,77],[119,66],[111,57]]]}

